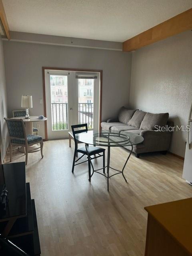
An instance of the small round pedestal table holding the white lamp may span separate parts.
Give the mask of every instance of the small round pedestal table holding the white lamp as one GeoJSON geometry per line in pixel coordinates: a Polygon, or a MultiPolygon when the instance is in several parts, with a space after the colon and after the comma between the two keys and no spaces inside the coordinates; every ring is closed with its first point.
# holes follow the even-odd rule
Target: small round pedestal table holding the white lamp
{"type": "MultiPolygon", "coordinates": [[[[47,120],[46,117],[44,117],[44,119],[39,119],[38,116],[30,116],[29,119],[26,119],[25,116],[17,116],[17,117],[12,117],[12,119],[22,119],[23,120],[23,122],[25,123],[25,132],[26,132],[26,134],[33,134],[33,122],[44,122],[44,121],[47,120]]],[[[36,152],[36,151],[39,151],[39,150],[40,150],[40,147],[38,146],[38,144],[28,146],[28,153],[36,152]]],[[[25,152],[23,147],[21,147],[19,149],[19,151],[25,152]]]]}

